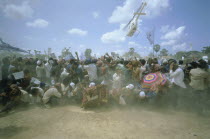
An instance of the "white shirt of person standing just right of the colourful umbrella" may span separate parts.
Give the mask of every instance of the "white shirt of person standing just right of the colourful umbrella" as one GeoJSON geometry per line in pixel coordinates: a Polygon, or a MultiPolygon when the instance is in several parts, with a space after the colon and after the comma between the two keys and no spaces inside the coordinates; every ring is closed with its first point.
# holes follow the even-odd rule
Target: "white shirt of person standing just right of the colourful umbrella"
{"type": "Polygon", "coordinates": [[[176,71],[174,71],[174,72],[172,70],[170,70],[170,77],[171,77],[172,83],[175,83],[176,85],[178,85],[182,88],[186,88],[186,85],[183,82],[184,72],[180,67],[178,69],[176,69],[176,71]]]}

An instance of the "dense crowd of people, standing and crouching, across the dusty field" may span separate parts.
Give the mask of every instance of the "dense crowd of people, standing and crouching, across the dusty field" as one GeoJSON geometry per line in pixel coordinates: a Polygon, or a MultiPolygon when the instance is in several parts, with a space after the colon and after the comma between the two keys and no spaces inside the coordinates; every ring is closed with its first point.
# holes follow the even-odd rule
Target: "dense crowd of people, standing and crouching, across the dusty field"
{"type": "MultiPolygon", "coordinates": [[[[77,53],[76,53],[77,55],[77,53]]],[[[156,103],[210,108],[210,72],[206,60],[100,58],[42,60],[4,57],[0,63],[0,113],[26,105],[50,108],[81,104],[156,103]],[[23,76],[17,78],[17,74],[23,76]]]]}

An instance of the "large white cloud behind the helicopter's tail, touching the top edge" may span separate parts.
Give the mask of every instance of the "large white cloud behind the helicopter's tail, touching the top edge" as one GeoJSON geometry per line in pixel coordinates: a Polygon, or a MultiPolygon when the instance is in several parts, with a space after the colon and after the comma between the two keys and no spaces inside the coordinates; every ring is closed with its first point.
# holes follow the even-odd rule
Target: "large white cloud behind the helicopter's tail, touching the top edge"
{"type": "MultiPolygon", "coordinates": [[[[109,23],[125,23],[128,22],[135,10],[139,8],[141,3],[139,0],[126,0],[123,6],[117,6],[109,17],[109,23]]],[[[169,0],[148,0],[145,10],[145,17],[156,17],[161,15],[162,11],[169,7],[169,0]]]]}

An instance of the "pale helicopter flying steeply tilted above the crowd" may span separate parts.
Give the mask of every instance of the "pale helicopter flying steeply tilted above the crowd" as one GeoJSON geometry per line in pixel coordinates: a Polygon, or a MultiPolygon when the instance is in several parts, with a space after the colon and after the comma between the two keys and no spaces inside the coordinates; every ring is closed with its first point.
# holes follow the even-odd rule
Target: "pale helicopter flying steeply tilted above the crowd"
{"type": "Polygon", "coordinates": [[[134,13],[132,19],[128,22],[128,24],[124,27],[124,29],[129,28],[127,36],[132,37],[138,28],[138,19],[140,15],[146,15],[146,13],[142,13],[144,7],[147,5],[146,2],[142,2],[141,6],[134,13]]]}

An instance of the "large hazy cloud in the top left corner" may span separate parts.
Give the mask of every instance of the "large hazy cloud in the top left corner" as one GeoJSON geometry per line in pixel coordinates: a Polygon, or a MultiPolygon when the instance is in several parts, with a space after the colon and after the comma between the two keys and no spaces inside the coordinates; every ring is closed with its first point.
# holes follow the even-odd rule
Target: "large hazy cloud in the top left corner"
{"type": "Polygon", "coordinates": [[[13,19],[29,18],[34,13],[28,2],[23,2],[21,5],[7,4],[3,11],[5,16],[13,19]]]}

